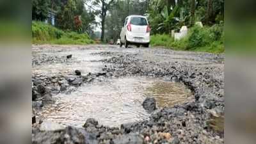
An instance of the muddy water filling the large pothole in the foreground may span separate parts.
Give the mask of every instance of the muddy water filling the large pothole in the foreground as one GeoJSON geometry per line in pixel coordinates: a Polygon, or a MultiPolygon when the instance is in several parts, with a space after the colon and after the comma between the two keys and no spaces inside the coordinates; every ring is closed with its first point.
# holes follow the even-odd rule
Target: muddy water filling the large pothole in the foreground
{"type": "Polygon", "coordinates": [[[159,107],[173,106],[189,99],[191,93],[182,84],[148,77],[124,77],[94,82],[69,95],[54,96],[56,103],[44,107],[42,118],[63,125],[81,127],[87,118],[100,124],[120,126],[147,120],[149,114],[141,104],[154,96],[159,107]]]}

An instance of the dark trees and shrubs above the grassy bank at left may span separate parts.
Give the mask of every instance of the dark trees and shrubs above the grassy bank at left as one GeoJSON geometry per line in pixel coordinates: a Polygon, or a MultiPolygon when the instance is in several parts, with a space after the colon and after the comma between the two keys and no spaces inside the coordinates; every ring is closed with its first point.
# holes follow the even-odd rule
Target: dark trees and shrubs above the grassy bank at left
{"type": "Polygon", "coordinates": [[[44,21],[49,12],[56,14],[56,26],[78,33],[92,33],[95,14],[86,10],[84,0],[33,0],[32,20],[44,21]]]}

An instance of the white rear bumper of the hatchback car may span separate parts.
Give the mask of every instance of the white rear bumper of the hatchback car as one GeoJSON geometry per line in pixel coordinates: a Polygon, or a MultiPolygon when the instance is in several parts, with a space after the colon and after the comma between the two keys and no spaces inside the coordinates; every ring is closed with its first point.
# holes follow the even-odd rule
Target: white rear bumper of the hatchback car
{"type": "Polygon", "coordinates": [[[147,44],[150,42],[150,33],[131,33],[127,31],[126,40],[131,43],[147,44]]]}

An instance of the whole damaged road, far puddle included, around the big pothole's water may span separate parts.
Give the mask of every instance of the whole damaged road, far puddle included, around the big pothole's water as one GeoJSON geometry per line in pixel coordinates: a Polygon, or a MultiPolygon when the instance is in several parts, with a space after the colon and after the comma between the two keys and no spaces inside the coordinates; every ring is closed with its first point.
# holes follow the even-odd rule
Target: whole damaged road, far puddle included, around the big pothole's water
{"type": "MultiPolygon", "coordinates": [[[[33,45],[32,56],[32,103],[36,115],[33,143],[223,143],[224,55],[161,48],[124,49],[115,45],[33,45]],[[70,54],[72,58],[67,58],[70,54]],[[74,96],[88,84],[122,77],[181,83],[192,94],[189,99],[172,106],[154,108],[149,115],[138,115],[148,118],[138,118],[120,126],[112,127],[88,118],[81,120],[84,124],[80,127],[66,125],[62,129],[42,129],[42,125],[56,125],[40,115],[47,106],[58,105],[56,95],[73,93],[74,96]]],[[[142,84],[147,83],[143,81],[142,84]]],[[[144,113],[142,103],[140,106],[134,104],[138,107],[134,111],[144,113]]]]}

